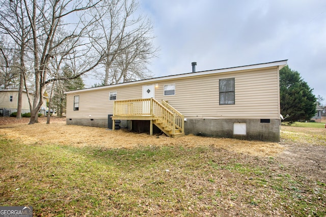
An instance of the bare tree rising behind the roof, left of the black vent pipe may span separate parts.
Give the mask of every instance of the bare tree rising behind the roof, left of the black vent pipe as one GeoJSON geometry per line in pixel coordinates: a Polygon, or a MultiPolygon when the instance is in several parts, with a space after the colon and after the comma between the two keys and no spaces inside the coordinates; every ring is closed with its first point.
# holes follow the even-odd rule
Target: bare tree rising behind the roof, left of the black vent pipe
{"type": "Polygon", "coordinates": [[[106,51],[103,84],[150,77],[147,65],[157,52],[152,45],[151,21],[137,15],[138,4],[134,0],[103,1],[101,5],[92,12],[101,17],[98,26],[104,33],[95,41],[99,52],[106,51]]]}

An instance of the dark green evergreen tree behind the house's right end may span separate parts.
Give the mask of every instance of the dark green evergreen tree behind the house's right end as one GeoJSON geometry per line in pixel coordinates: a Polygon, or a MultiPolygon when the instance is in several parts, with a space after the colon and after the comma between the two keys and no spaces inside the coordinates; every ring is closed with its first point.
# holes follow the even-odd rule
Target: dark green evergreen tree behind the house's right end
{"type": "Polygon", "coordinates": [[[300,73],[285,66],[280,70],[281,114],[288,114],[286,121],[309,120],[316,113],[316,97],[300,73]]]}

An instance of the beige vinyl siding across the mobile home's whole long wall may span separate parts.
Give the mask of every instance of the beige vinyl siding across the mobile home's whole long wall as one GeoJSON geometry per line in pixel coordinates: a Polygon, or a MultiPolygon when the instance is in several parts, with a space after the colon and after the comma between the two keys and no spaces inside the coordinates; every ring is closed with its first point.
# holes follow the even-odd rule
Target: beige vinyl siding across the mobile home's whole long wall
{"type": "Polygon", "coordinates": [[[279,119],[277,67],[68,92],[67,118],[106,118],[113,112],[114,101],[108,100],[110,91],[117,91],[117,100],[141,99],[142,86],[155,83],[155,99],[168,101],[186,118],[279,119]],[[219,80],[226,78],[235,79],[234,105],[219,105],[219,80]],[[167,84],[175,84],[175,95],[164,96],[167,84]],[[79,111],[73,111],[73,96],[79,96],[79,111]]]}

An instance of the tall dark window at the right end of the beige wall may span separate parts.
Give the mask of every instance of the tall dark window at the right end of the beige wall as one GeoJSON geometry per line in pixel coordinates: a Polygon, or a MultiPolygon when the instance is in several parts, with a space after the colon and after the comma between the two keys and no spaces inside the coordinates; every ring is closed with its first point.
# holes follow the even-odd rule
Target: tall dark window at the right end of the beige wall
{"type": "Polygon", "coordinates": [[[235,104],[234,78],[220,79],[220,105],[235,104]]]}

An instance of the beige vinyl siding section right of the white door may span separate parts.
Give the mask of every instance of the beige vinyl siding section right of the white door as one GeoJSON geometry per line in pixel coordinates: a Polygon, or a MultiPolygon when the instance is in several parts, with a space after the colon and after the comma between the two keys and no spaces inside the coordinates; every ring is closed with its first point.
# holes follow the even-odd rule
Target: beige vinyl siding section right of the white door
{"type": "MultiPolygon", "coordinates": [[[[172,81],[167,81],[167,83],[172,81]]],[[[279,119],[277,68],[178,79],[175,96],[162,96],[188,118],[279,119]],[[219,105],[219,79],[235,78],[235,104],[219,105]]],[[[165,82],[160,82],[159,87],[165,82]]]]}

